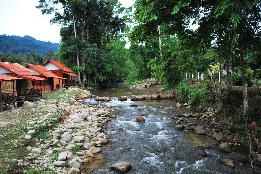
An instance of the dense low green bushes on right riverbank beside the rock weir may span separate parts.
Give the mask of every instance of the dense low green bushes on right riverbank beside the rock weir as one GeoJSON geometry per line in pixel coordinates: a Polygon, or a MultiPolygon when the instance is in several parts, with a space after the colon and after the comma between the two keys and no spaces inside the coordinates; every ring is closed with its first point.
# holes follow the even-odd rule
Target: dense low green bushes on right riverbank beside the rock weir
{"type": "Polygon", "coordinates": [[[216,102],[216,94],[212,82],[191,82],[183,80],[176,88],[179,100],[188,101],[191,105],[205,108],[216,102]]]}

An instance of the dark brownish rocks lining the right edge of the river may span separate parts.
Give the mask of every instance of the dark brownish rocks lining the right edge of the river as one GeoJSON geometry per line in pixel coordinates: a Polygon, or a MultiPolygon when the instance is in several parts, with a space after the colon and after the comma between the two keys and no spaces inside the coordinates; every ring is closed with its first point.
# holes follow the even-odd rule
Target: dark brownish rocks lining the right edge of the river
{"type": "MultiPolygon", "coordinates": [[[[184,104],[183,106],[177,104],[177,106],[186,106],[186,108],[192,108],[192,106],[189,106],[188,104],[184,104]]],[[[197,134],[213,137],[213,139],[217,141],[216,144],[219,145],[220,151],[226,153],[231,152],[232,146],[241,145],[238,138],[223,131],[225,130],[224,127],[226,125],[231,124],[229,123],[229,120],[227,118],[222,118],[221,120],[218,119],[216,115],[216,112],[218,111],[216,111],[213,107],[205,108],[203,109],[203,111],[203,113],[199,114],[184,113],[183,115],[174,115],[171,118],[175,120],[175,129],[191,130],[197,134]]],[[[230,167],[234,167],[234,162],[231,159],[220,159],[220,163],[230,167]]]]}

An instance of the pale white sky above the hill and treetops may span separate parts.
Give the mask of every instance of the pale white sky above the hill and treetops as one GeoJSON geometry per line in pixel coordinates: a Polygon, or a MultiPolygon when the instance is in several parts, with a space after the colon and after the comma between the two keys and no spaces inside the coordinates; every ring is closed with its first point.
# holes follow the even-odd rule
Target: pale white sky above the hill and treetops
{"type": "MultiPolygon", "coordinates": [[[[134,0],[119,0],[129,7],[134,0]]],[[[60,43],[61,25],[50,24],[54,15],[42,15],[38,0],[0,0],[0,35],[29,35],[37,40],[60,43]]]]}

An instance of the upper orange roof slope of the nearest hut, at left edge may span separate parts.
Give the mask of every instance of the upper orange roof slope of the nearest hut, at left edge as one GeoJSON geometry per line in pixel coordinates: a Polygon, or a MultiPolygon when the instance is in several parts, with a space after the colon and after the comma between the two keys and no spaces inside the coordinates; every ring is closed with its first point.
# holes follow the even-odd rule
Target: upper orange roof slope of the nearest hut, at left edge
{"type": "Polygon", "coordinates": [[[0,66],[17,75],[36,75],[19,63],[0,62],[0,66]]]}

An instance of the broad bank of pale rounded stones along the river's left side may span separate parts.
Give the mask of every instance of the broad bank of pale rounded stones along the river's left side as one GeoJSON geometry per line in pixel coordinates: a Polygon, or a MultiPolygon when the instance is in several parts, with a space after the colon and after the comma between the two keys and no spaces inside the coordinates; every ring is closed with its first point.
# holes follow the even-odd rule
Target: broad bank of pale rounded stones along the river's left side
{"type": "MultiPolygon", "coordinates": [[[[88,91],[81,90],[81,92],[92,96],[88,91]]],[[[30,153],[26,154],[25,159],[17,160],[17,166],[22,167],[25,174],[30,173],[30,170],[44,170],[58,174],[81,173],[81,166],[90,163],[88,159],[95,158],[95,154],[102,151],[101,147],[109,143],[104,128],[107,118],[116,118],[116,115],[110,115],[114,109],[101,104],[84,104],[76,101],[75,96],[68,101],[58,102],[58,106],[57,100],[41,100],[41,103],[45,102],[51,104],[40,105],[38,108],[43,108],[46,115],[39,115],[27,121],[28,126],[25,127],[27,133],[22,138],[33,139],[35,144],[26,147],[30,153]],[[57,121],[55,115],[62,112],[69,115],[63,117],[60,124],[54,127],[57,121]],[[38,139],[36,134],[39,128],[43,127],[49,128],[46,129],[48,132],[44,133],[46,138],[38,139]]],[[[130,167],[131,164],[121,162],[110,168],[115,171],[127,171],[130,167]]]]}

